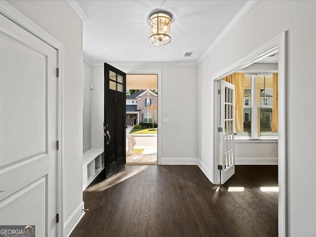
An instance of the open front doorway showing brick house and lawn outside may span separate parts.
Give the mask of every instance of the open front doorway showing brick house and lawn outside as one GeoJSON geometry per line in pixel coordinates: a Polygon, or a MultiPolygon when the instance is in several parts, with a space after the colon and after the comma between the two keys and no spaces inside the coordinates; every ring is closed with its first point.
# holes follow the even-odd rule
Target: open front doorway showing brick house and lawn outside
{"type": "Polygon", "coordinates": [[[126,75],[126,164],[158,163],[158,75],[126,75]]]}

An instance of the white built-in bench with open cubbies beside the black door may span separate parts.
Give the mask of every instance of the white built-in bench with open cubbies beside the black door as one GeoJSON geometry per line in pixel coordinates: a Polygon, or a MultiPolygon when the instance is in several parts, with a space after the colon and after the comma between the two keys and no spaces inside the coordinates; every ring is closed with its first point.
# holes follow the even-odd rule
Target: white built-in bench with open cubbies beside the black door
{"type": "Polygon", "coordinates": [[[90,149],[83,153],[82,190],[104,169],[104,149],[90,149]]]}

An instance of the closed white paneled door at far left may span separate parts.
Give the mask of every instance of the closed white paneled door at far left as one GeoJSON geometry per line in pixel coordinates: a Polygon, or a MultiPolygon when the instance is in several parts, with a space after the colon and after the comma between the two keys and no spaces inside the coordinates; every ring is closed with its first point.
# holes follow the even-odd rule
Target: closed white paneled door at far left
{"type": "Polygon", "coordinates": [[[0,14],[0,224],[56,236],[57,51],[0,14]]]}

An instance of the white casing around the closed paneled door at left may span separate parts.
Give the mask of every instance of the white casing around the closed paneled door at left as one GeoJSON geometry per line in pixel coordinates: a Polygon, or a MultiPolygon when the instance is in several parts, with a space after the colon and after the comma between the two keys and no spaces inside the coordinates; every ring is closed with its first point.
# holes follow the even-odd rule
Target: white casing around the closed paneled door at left
{"type": "Polygon", "coordinates": [[[44,31],[40,26],[31,21],[28,17],[14,8],[12,5],[6,1],[0,1],[0,14],[4,15],[20,27],[24,28],[26,31],[30,32],[32,35],[36,36],[40,40],[44,41],[48,45],[52,46],[57,50],[57,67],[59,68],[58,77],[58,140],[59,140],[59,150],[57,151],[58,164],[57,164],[57,213],[59,213],[59,223],[56,223],[57,236],[64,236],[63,228],[63,160],[64,160],[64,45],[44,31]]]}

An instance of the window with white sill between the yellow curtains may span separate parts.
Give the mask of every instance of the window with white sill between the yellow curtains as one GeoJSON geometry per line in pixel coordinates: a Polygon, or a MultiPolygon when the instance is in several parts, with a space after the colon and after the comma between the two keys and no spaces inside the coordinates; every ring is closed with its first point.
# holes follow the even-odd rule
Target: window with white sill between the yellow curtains
{"type": "Polygon", "coordinates": [[[272,132],[273,76],[245,76],[243,94],[243,132],[239,137],[277,137],[272,132]]]}

